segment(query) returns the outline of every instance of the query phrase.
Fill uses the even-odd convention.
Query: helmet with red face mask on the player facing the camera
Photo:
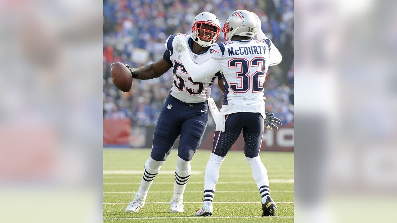
[[[204,29],[202,27],[203,24],[207,25],[212,25],[215,28],[215,32]],[[199,30],[203,31],[203,36],[201,37],[199,35]],[[221,23],[219,22],[218,18],[216,15],[209,13],[209,12],[202,12],[198,14],[195,19],[193,19],[193,24],[192,24],[192,39],[193,41],[197,42],[200,46],[202,47],[208,47],[212,46],[216,39],[219,37],[219,33],[221,32]],[[202,39],[209,40],[203,41]]]

